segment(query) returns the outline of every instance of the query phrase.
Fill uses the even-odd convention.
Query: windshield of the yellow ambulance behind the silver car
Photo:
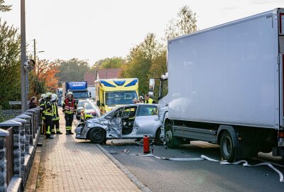
[[[135,90],[106,92],[106,105],[126,105],[133,103],[133,99],[138,98]]]

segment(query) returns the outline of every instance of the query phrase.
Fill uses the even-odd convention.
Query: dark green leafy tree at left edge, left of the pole
[[[21,39],[17,29],[0,20],[0,105],[21,100]]]

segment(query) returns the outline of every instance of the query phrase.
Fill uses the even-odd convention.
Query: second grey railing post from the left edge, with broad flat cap
[[[21,176],[21,144],[20,144],[20,122],[8,120],[1,122],[0,127],[13,127],[13,174]]]

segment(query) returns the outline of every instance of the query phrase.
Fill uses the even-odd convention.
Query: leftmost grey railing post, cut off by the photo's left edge
[[[6,183],[6,137],[9,132],[0,129],[0,192],[7,190]]]

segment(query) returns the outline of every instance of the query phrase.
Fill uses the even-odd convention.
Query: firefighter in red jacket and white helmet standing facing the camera
[[[62,105],[62,111],[65,113],[66,134],[73,134],[71,130],[76,110],[77,110],[77,104],[73,99],[73,93],[67,92],[67,98],[64,100]]]

